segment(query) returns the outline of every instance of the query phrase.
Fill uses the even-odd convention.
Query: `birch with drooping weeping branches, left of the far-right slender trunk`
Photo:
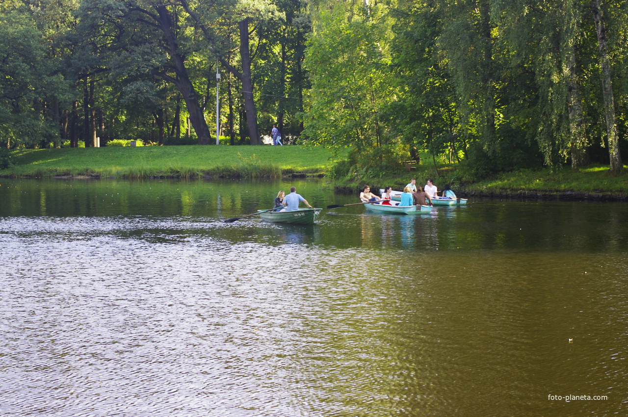
[[[529,121],[529,136],[539,144],[546,165],[571,158],[577,170],[589,144],[578,55],[585,35],[583,9],[577,2],[498,2],[499,6],[503,6],[498,8],[500,46],[509,65],[534,77],[529,106],[519,110]],[[522,79],[511,84],[515,81]],[[531,110],[538,116],[530,117]]]

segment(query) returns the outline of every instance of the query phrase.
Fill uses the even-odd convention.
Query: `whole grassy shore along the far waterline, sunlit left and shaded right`
[[[23,149],[11,154],[5,177],[94,176],[151,178],[321,176],[330,171],[331,154],[304,146],[144,146],[141,148]],[[401,190],[411,178],[424,185],[431,178],[440,189],[449,184],[461,195],[541,196],[569,198],[628,197],[628,173],[609,175],[608,166],[588,166],[578,172],[519,170],[470,182],[455,166],[418,165],[378,178],[337,180],[337,190],[358,193],[364,184],[379,190]]]

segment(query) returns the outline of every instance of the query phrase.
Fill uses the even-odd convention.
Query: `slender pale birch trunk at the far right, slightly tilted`
[[[609,51],[607,33],[600,0],[593,0],[591,4],[593,20],[597,30],[597,43],[600,51],[600,70],[602,72],[602,96],[604,97],[604,117],[606,132],[609,141],[610,172],[617,174],[622,168],[622,157],[619,152],[619,134],[615,125],[615,99],[613,97],[613,83],[610,78]]]

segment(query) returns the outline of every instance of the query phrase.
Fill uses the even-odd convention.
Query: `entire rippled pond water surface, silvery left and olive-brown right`
[[[291,185],[0,179],[0,414],[628,414],[627,204]]]

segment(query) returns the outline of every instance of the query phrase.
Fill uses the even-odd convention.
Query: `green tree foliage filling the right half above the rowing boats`
[[[407,144],[409,158],[423,150],[434,163],[463,161],[484,173],[566,161],[578,169],[602,161],[607,146],[618,171],[625,3],[315,5],[306,55],[312,89],[305,132],[313,143],[359,148],[383,137]],[[378,8],[386,10],[379,20],[365,13]],[[369,55],[364,45],[386,53]],[[364,111],[369,74],[382,88]],[[613,99],[615,86],[620,99]]]

